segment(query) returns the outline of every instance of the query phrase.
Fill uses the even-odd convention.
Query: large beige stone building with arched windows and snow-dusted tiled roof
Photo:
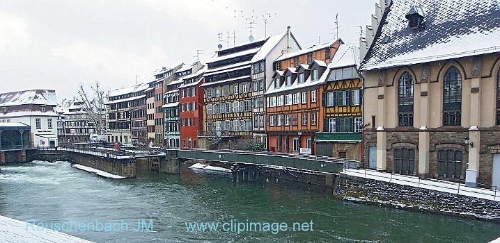
[[[380,6],[361,40],[367,166],[500,185],[497,1]]]

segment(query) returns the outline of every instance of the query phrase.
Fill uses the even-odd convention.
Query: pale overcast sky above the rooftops
[[[358,44],[375,0],[325,1],[4,1],[0,0],[0,92],[55,89],[72,98],[96,79],[114,90],[153,79],[157,68],[202,62],[217,50],[217,33],[236,43],[292,27],[302,48],[339,35]],[[230,39],[230,46],[233,39]]]

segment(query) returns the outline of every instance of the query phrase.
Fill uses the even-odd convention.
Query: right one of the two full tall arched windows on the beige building
[[[462,117],[462,76],[455,67],[444,75],[443,126],[460,126]]]

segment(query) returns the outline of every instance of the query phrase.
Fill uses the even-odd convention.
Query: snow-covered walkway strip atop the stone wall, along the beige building
[[[349,176],[357,176],[362,178],[373,179],[377,181],[385,181],[396,183],[399,185],[409,185],[412,187],[420,187],[428,190],[439,192],[448,192],[464,196],[472,196],[480,199],[500,201],[500,191],[488,190],[484,188],[466,187],[464,184],[453,183],[451,181],[440,181],[435,179],[419,179],[416,176],[404,176],[399,174],[391,174],[370,169],[344,169],[343,174]]]

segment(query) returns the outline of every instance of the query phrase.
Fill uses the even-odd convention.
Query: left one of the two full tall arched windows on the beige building
[[[398,126],[413,126],[413,81],[408,72],[398,82]]]

